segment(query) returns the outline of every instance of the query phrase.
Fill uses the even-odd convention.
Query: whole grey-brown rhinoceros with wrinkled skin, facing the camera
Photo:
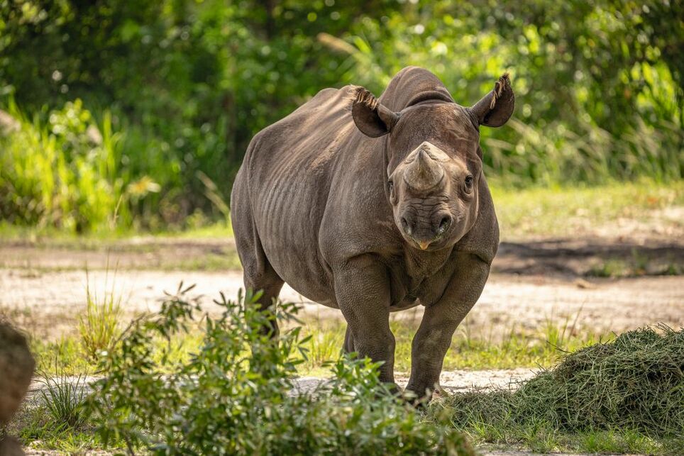
[[[262,130],[231,199],[245,287],[263,289],[265,308],[283,282],[339,308],[344,350],[383,361],[385,382],[390,312],[424,306],[407,390],[429,398],[499,243],[479,128],[501,126],[513,105],[507,75],[464,108],[434,74],[407,67],[379,100],[324,89]]]

